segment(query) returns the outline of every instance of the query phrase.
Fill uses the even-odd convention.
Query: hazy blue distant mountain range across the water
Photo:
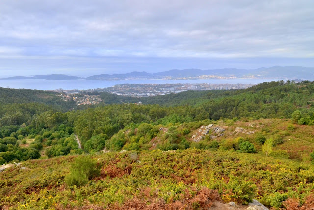
[[[262,79],[304,79],[314,80],[314,68],[301,66],[273,66],[258,69],[173,69],[158,73],[147,73],[145,71],[133,71],[125,74],[100,74],[82,78],[64,74],[36,75],[33,77],[8,77],[0,80],[20,79],[45,79],[45,80],[127,80],[127,79],[232,79],[232,78],[262,78]]]

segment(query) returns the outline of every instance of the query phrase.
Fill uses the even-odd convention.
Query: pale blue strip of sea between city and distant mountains
[[[15,89],[36,90],[88,90],[96,88],[107,88],[118,84],[258,84],[263,82],[278,81],[279,79],[195,79],[195,80],[162,80],[162,79],[135,79],[135,80],[0,80],[0,87]]]

